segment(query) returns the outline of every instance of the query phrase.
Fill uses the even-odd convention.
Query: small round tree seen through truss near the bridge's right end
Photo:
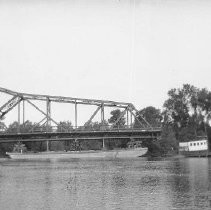
[[[115,109],[113,111],[111,111],[111,117],[108,119],[108,122],[111,124],[115,124],[115,122],[120,118],[121,114],[123,113],[123,111],[121,111],[120,109]],[[114,125],[114,128],[124,128],[125,127],[125,117],[122,116],[119,121]]]

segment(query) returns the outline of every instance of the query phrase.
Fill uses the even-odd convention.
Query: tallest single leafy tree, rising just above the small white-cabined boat
[[[192,132],[192,128],[197,130],[197,122],[193,123],[191,118],[197,116],[198,93],[199,89],[189,84],[168,91],[169,98],[164,102],[163,119],[165,125],[172,126],[177,139],[181,138],[180,132],[184,130],[186,132]]]

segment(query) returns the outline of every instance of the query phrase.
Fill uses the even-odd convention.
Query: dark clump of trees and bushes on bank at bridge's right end
[[[145,113],[147,109],[154,111]],[[162,112],[148,107],[143,115],[152,125],[162,126],[161,138],[149,145],[153,154],[177,153],[179,142],[195,140],[197,136],[207,136],[210,142],[211,92],[206,88],[189,84],[173,88],[168,91]]]

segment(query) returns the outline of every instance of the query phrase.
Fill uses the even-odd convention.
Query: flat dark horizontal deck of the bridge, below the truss
[[[60,140],[92,140],[92,139],[155,139],[161,130],[102,130],[102,131],[71,131],[71,132],[36,132],[36,133],[14,133],[0,134],[0,143],[18,141],[60,141]]]

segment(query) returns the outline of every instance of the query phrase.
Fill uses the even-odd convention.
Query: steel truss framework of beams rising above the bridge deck
[[[25,103],[28,103],[30,106],[34,107],[38,112],[43,115],[43,118],[35,124],[35,126],[45,125],[46,128],[51,126],[59,126],[59,122],[51,116],[51,103],[70,103],[74,104],[74,127],[78,128],[78,108],[79,104],[81,105],[89,105],[89,106],[96,106],[96,110],[90,118],[84,123],[83,127],[87,128],[91,123],[97,113],[100,112],[101,114],[101,126],[102,129],[105,129],[106,126],[104,125],[105,122],[105,109],[106,107],[113,107],[113,108],[121,108],[123,111],[119,118],[110,126],[109,129],[115,127],[118,122],[121,120],[122,117],[126,115],[126,126],[132,127],[133,122],[132,118],[136,119],[140,125],[141,129],[153,129],[152,126],[139,114],[138,110],[132,103],[124,103],[124,102],[116,102],[116,101],[108,101],[108,100],[95,100],[95,99],[82,99],[82,98],[72,98],[72,97],[63,97],[63,96],[50,96],[50,95],[38,95],[38,94],[28,94],[28,93],[20,93],[11,91],[5,88],[0,88],[0,92],[8,94],[11,98],[4,104],[0,106],[0,119],[3,119],[8,112],[18,106],[18,124],[20,125],[21,119],[21,112],[22,112],[22,119],[23,124],[25,122]],[[42,110],[39,106],[37,106],[34,101],[44,101],[46,103],[46,109]],[[22,111],[20,106],[22,104]],[[129,116],[130,115],[130,116]],[[130,122],[129,122],[130,119]],[[62,127],[63,131],[67,131],[67,128]],[[104,127],[104,128],[103,128]]]

